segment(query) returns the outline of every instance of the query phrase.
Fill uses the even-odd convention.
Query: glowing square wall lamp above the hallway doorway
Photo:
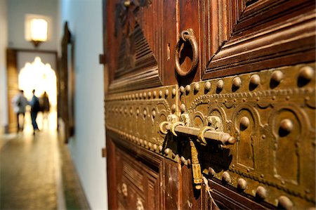
[[[48,40],[48,20],[43,16],[27,15],[25,18],[25,39],[35,48]]]

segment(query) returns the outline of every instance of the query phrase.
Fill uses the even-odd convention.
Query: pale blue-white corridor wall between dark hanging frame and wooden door
[[[74,41],[75,134],[69,149],[91,209],[107,209],[103,66],[98,63],[102,0],[59,1],[60,32],[67,21]]]

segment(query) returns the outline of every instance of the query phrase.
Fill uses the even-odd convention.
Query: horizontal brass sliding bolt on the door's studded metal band
[[[169,131],[173,136],[178,136],[182,134],[192,138],[197,138],[197,141],[202,145],[206,145],[209,140],[216,140],[222,145],[233,145],[236,142],[234,136],[230,136],[229,133],[223,131],[214,131],[211,126],[204,126],[202,129],[185,126],[183,122],[175,122],[171,124],[170,122],[162,122],[159,125],[160,132],[166,134]]]

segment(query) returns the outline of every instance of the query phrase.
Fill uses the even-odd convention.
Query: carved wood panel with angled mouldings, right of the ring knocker
[[[212,0],[201,7],[203,79],[315,60],[314,1]]]

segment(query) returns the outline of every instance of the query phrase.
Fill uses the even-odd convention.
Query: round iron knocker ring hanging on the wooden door
[[[179,54],[180,54],[180,47],[183,43],[190,41],[192,46],[193,58],[190,70],[185,71],[180,67],[179,62]],[[186,29],[183,32],[180,32],[179,41],[176,45],[176,53],[175,53],[175,63],[176,63],[176,71],[181,77],[186,77],[190,74],[193,70],[196,70],[197,65],[199,63],[199,48],[197,46],[197,39],[195,38],[195,34],[192,29]]]

